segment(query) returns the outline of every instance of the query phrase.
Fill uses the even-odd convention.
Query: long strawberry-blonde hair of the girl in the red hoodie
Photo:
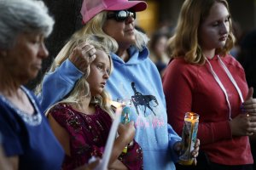
[[[223,3],[229,9],[226,0],[186,0],[183,3],[177,21],[176,32],[168,41],[168,54],[172,58],[183,57],[191,64],[204,64],[206,57],[202,54],[198,40],[198,31],[201,23],[206,20],[209,11],[214,3]],[[228,54],[235,44],[235,37],[232,33],[232,23],[230,22],[230,32],[223,48],[217,48],[216,54]],[[211,41],[211,40],[209,40]]]

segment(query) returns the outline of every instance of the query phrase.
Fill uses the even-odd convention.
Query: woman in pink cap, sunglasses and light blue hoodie
[[[181,139],[167,124],[160,74],[148,58],[148,37],[134,28],[136,12],[146,8],[143,1],[84,0],[81,9],[84,27],[72,38],[94,34],[107,47],[109,42],[118,44],[117,52],[111,54],[114,69],[106,89],[113,100],[132,101],[130,119],[135,122],[135,140],[143,149],[143,168],[175,169]],[[94,50],[87,54],[95,57]],[[67,59],[44,77],[39,96],[44,110],[64,98],[84,75],[84,68],[75,65],[79,63]],[[192,151],[194,157],[198,150],[199,140]]]

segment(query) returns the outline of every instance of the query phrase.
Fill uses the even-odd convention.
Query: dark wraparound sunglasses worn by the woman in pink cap
[[[126,20],[129,16],[132,18],[136,19],[136,13],[130,10],[119,10],[119,11],[113,11],[113,14],[108,14],[107,19],[114,19],[116,21],[124,21]]]

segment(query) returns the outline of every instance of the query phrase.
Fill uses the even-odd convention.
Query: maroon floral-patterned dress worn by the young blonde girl
[[[55,105],[49,114],[67,130],[70,137],[70,156],[65,156],[62,169],[69,170],[82,166],[91,156],[102,157],[112,124],[112,118],[107,112],[96,106],[95,114],[86,115],[73,110],[70,105],[59,104]],[[127,153],[119,156],[119,161],[128,169],[143,169],[142,148],[134,140]]]

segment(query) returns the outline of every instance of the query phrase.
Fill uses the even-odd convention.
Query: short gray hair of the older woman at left
[[[22,33],[48,37],[53,25],[42,1],[0,0],[0,49],[12,48]]]

